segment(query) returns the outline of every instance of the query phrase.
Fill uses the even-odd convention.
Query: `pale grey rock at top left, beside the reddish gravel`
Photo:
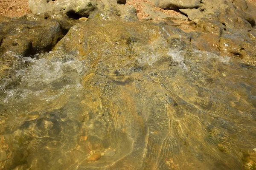
[[[88,17],[95,8],[96,2],[91,0],[29,0],[29,10],[33,14],[63,11],[70,16]]]

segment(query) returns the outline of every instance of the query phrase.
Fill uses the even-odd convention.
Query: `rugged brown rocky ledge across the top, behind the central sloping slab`
[[[34,14],[12,19],[0,18],[0,55],[3,56],[7,51],[23,56],[51,51],[72,26],[77,27],[77,20],[81,17],[89,18],[87,23],[79,24],[90,28],[90,31],[94,31],[94,28],[90,27],[90,23],[94,22],[124,21],[123,25],[131,22],[134,22],[134,25],[145,24],[145,21],[139,21],[143,18],[138,20],[137,10],[137,13],[146,14],[145,20],[149,22],[147,24],[159,27],[162,25],[170,29],[176,26],[180,28],[178,36],[189,34],[186,44],[191,48],[236,57],[250,64],[255,63],[254,4],[244,0],[142,0],[137,1],[139,6],[134,8],[125,3],[125,0],[29,0],[29,9]],[[133,4],[133,1],[128,0],[127,3]],[[162,8],[162,11],[155,8]],[[170,9],[176,10],[177,14],[166,14],[164,10]],[[115,39],[115,35],[112,36]]]

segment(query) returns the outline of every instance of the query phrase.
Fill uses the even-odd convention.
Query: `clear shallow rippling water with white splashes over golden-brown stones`
[[[255,67],[170,49],[141,56],[148,68],[104,75],[48,55],[19,59],[0,80],[2,169],[241,170],[255,161]]]

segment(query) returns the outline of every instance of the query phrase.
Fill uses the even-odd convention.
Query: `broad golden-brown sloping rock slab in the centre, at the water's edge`
[[[53,52],[58,50],[64,55],[86,59],[89,65],[101,65],[102,60],[114,64],[116,69],[108,68],[108,72],[119,69],[129,72],[131,65],[146,68],[164,57],[168,48],[186,49],[189,43],[189,37],[176,27],[151,22],[94,21],[92,18],[71,28]],[[159,55],[155,56],[156,52]],[[122,64],[118,62],[120,58]]]

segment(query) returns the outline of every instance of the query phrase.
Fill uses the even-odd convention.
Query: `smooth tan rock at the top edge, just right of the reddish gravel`
[[[201,6],[200,0],[150,0],[155,6],[162,9],[176,8],[198,8]]]

